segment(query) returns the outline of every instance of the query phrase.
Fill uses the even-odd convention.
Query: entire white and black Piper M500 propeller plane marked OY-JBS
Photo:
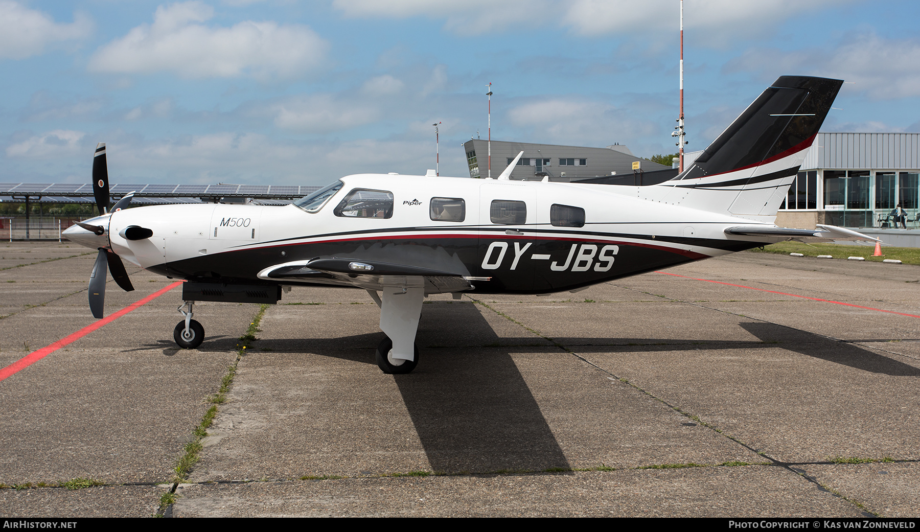
[[[196,301],[277,303],[288,286],[366,290],[380,306],[385,373],[419,361],[426,295],[546,294],[751,249],[786,239],[875,240],[841,227],[774,225],[843,82],[784,75],[683,173],[632,187],[358,174],[292,205],[109,208],[105,145],[93,163],[102,215],[64,231],[98,249],[89,306],[102,318],[108,263],[121,259],[185,279],[175,339],[201,344]],[[518,155],[520,157],[521,154]],[[121,259],[120,259],[121,258]]]

